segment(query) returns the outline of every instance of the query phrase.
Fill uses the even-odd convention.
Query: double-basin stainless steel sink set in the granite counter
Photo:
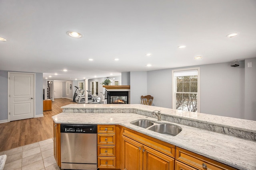
[[[172,125],[169,123],[156,123],[154,121],[145,120],[145,119],[132,121],[131,124],[139,127],[143,127],[150,131],[154,131],[157,133],[170,135],[170,136],[176,136],[182,131],[182,128],[177,125]]]

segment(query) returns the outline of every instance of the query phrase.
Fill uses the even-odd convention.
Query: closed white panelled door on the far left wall
[[[10,121],[34,117],[34,74],[10,73]]]

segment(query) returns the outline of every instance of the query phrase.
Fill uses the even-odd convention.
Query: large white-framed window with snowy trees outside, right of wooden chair
[[[172,108],[200,111],[200,68],[172,70]]]

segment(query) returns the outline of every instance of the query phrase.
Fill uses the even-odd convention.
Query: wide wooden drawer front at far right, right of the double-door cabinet
[[[179,147],[176,147],[176,160],[199,170],[236,170],[235,168]]]

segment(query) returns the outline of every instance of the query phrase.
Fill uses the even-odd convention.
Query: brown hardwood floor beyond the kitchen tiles
[[[52,110],[44,117],[0,123],[0,151],[21,147],[53,137],[52,116],[61,113],[60,107],[74,104],[70,99],[54,99]]]

